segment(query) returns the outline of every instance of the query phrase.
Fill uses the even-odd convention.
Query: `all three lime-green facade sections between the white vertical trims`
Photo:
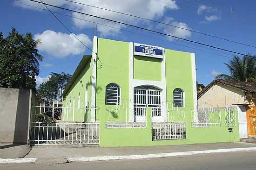
[[[98,38],[97,62],[97,94],[96,107],[108,115],[108,121],[125,122],[129,118],[129,110],[122,106],[117,112],[109,112],[113,105],[105,105],[105,87],[115,82],[121,87],[121,101],[129,101],[129,43]],[[165,49],[167,101],[173,105],[173,90],[182,88],[185,92],[184,111],[193,111],[193,86],[191,53]],[[134,78],[139,80],[162,81],[161,59],[135,56]],[[169,119],[170,119],[169,115]],[[96,115],[99,120],[99,115]],[[181,121],[178,118],[177,121]]]

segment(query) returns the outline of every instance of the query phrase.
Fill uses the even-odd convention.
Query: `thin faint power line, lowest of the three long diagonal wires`
[[[31,5],[28,5],[28,4],[23,4],[23,3],[21,3],[21,2],[17,2],[17,3],[22,4],[22,5],[25,5],[25,6],[34,7],[34,8],[40,9],[40,10],[48,11],[48,10],[46,10],[46,9],[42,9],[42,8],[39,8],[39,7],[36,7],[36,6],[31,6]],[[207,53],[209,53],[209,54],[214,54],[214,55],[217,55],[217,56],[222,56],[222,57],[226,57],[226,58],[231,58],[231,57],[223,56],[223,55],[221,55],[221,54],[217,54],[217,53],[214,53],[214,52],[210,52],[210,51],[206,51],[206,50],[201,50],[201,49],[189,47],[189,46],[187,46],[187,45],[174,43],[174,42],[167,41],[167,40],[164,40],[164,39],[161,39],[161,38],[155,38],[155,37],[147,36],[147,35],[144,35],[144,34],[140,34],[140,33],[138,33],[138,32],[133,32],[133,31],[124,30],[124,29],[117,28],[117,27],[110,26],[110,25],[104,25],[104,24],[101,24],[101,23],[97,23],[97,22],[94,22],[94,21],[87,20],[87,19],[81,19],[81,18],[73,17],[73,16],[70,16],[70,15],[66,15],[66,14],[58,13],[58,12],[53,12],[53,13],[57,13],[57,14],[60,14],[60,15],[63,15],[63,16],[67,16],[67,17],[70,17],[70,18],[74,18],[74,19],[80,19],[80,20],[87,21],[87,22],[91,22],[91,23],[98,24],[98,25],[107,26],[107,27],[114,28],[114,29],[118,29],[118,30],[121,30],[121,31],[130,32],[130,33],[137,34],[137,35],[141,35],[141,36],[148,37],[148,38],[153,38],[153,39],[160,40],[160,41],[164,41],[164,42],[167,42],[167,43],[170,43],[170,44],[176,44],[176,45],[180,45],[180,46],[183,46],[183,47],[186,47],[186,48],[190,48],[190,49],[194,49],[194,50],[200,50],[200,51],[202,51],[202,52],[207,52]],[[176,40],[176,39],[175,39],[175,40]],[[177,41],[177,40],[176,40],[176,41]],[[191,44],[191,45],[195,45],[195,44]],[[201,47],[201,48],[205,48],[205,47]]]

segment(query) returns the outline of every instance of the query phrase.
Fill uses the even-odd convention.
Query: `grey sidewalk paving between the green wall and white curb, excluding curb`
[[[256,147],[252,143],[216,143],[194,145],[169,145],[169,146],[140,146],[140,147],[72,147],[72,146],[34,146],[26,157],[56,158],[56,157],[97,157],[97,156],[123,156],[145,155],[155,153],[205,151],[228,148]]]

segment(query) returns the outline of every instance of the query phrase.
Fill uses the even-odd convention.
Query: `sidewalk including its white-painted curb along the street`
[[[0,150],[0,158],[13,155],[18,157],[16,151],[25,151],[25,146],[13,146]],[[29,148],[29,146],[27,146]],[[4,151],[4,152],[2,152]],[[0,159],[2,163],[31,162],[36,164],[61,164],[68,162],[83,162],[97,160],[141,159],[156,157],[173,157],[178,155],[210,154],[234,151],[256,151],[255,143],[235,142],[216,144],[194,145],[169,145],[169,146],[142,146],[142,147],[116,147],[100,148],[98,146],[71,146],[71,145],[40,145],[27,150],[27,155],[22,159]],[[21,152],[19,152],[21,153]],[[25,152],[23,152],[24,154]],[[5,155],[6,154],[6,155]]]

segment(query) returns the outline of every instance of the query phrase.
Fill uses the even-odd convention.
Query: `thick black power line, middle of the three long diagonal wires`
[[[98,18],[98,19],[104,19],[104,20],[120,23],[120,24],[123,24],[123,25],[128,25],[128,26],[131,26],[131,27],[139,28],[141,30],[155,32],[155,33],[162,34],[162,35],[165,35],[165,36],[168,36],[168,37],[182,39],[184,41],[192,42],[192,43],[195,43],[195,44],[200,44],[200,45],[203,45],[203,46],[208,46],[208,47],[215,48],[215,49],[218,49],[218,50],[223,50],[223,51],[228,51],[228,52],[239,54],[239,55],[243,55],[243,56],[248,56],[248,55],[243,54],[243,53],[239,53],[239,52],[235,52],[235,51],[231,51],[231,50],[226,50],[226,49],[223,49],[223,48],[220,48],[220,47],[216,47],[216,46],[213,46],[213,45],[203,44],[203,43],[200,43],[200,42],[197,42],[197,41],[192,41],[192,40],[189,40],[189,39],[186,39],[186,38],[176,37],[176,36],[173,36],[173,35],[170,35],[170,34],[165,34],[165,33],[159,32],[159,31],[150,30],[150,29],[143,28],[143,27],[140,27],[140,26],[127,24],[127,23],[123,23],[123,22],[120,22],[120,21],[115,21],[113,19],[106,19],[106,18],[103,18],[103,17],[98,17],[98,16],[91,15],[91,14],[88,14],[88,13],[82,13],[82,12],[79,12],[79,11],[74,11],[72,9],[67,9],[67,8],[60,7],[60,6],[54,6],[54,5],[51,5],[51,4],[47,4],[47,3],[43,3],[43,2],[39,2],[39,1],[35,1],[35,0],[30,0],[30,1],[37,2],[37,3],[40,3],[40,4],[44,4],[44,5],[47,5],[47,6],[53,6],[53,7],[56,7],[56,8],[59,8],[59,9],[63,9],[63,10],[67,10],[67,11],[71,11],[71,12],[74,12],[74,13],[80,13],[80,14],[91,16],[91,17]],[[253,57],[253,56],[248,56],[248,57]]]

